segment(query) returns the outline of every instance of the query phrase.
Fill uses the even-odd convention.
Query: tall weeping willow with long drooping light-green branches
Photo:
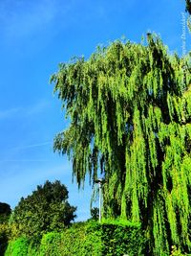
[[[71,121],[54,150],[70,156],[79,186],[104,175],[104,216],[141,222],[150,255],[191,248],[190,60],[147,35],[60,64],[52,77]]]

